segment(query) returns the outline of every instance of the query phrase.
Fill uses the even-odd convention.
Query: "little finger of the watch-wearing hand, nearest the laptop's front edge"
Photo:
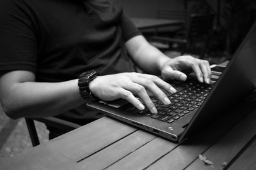
[[[145,106],[141,103],[141,101],[138,100],[135,96],[133,96],[132,92],[129,92],[128,90],[120,89],[119,97],[131,103],[138,110],[145,109]]]

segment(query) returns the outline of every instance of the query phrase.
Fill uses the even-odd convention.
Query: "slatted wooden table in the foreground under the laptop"
[[[0,160],[0,169],[256,169],[255,103],[243,103],[173,143],[109,117]],[[238,120],[238,121],[237,121]],[[213,162],[207,166],[202,154]]]

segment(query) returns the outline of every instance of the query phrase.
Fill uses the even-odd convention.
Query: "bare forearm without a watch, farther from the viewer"
[[[137,36],[127,41],[127,49],[134,62],[145,73],[160,74],[163,64],[170,60],[156,47],[150,45],[143,36]]]

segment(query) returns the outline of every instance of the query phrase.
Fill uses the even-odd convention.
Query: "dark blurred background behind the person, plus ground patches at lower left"
[[[143,35],[169,57],[193,55],[219,64],[231,59],[256,18],[254,0],[120,0],[132,19],[179,21],[179,24],[139,27]],[[202,24],[202,20],[204,20]],[[138,23],[137,23],[138,24]],[[139,23],[140,24],[140,23]],[[153,24],[154,25],[154,24]],[[202,34],[204,33],[204,34]],[[44,124],[36,122],[40,143],[48,141]],[[11,120],[0,106],[0,157],[31,148],[24,118]]]

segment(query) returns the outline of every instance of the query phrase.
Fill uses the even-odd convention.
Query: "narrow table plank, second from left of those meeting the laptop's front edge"
[[[84,167],[84,169],[104,169],[154,138],[156,138],[156,136],[148,132],[136,131],[113,145],[108,146],[104,150],[100,150],[100,152],[82,160],[79,164]]]

